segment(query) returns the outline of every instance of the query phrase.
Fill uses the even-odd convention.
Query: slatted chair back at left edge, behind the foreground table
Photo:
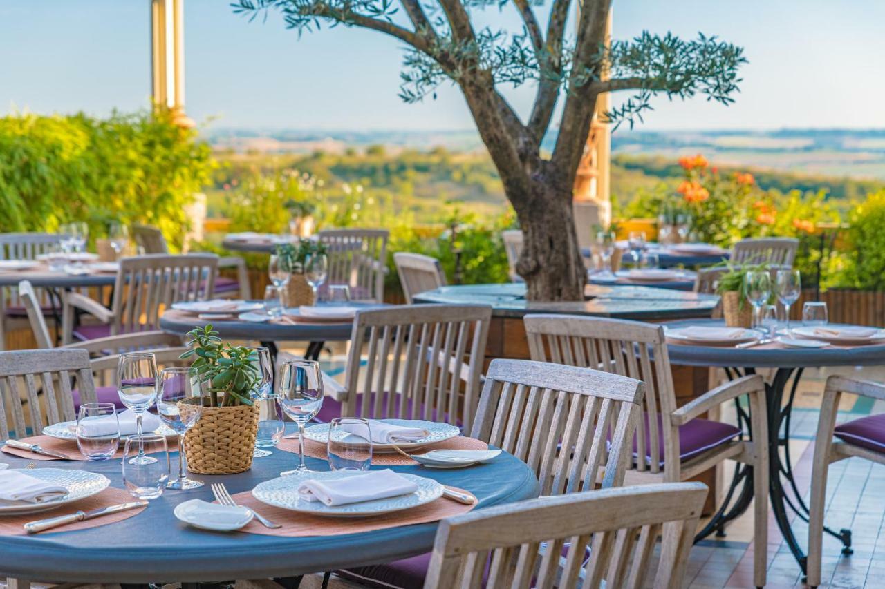
[[[73,379],[76,379],[81,402],[95,402],[89,353],[84,349],[0,352],[0,436],[3,440],[26,438],[39,434],[46,425],[75,419]]]

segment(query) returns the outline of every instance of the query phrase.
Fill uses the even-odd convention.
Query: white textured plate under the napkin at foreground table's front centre
[[[296,473],[287,477],[273,478],[259,484],[252,489],[252,496],[263,503],[282,509],[291,509],[309,513],[314,516],[332,517],[368,517],[377,516],[391,511],[412,509],[435,501],[443,496],[443,486],[433,478],[417,477],[405,472],[397,473],[401,477],[408,478],[418,486],[418,491],[405,495],[397,495],[387,499],[362,501],[349,505],[329,506],[322,501],[304,501],[298,493],[298,487],[305,480],[312,478],[320,480],[333,480],[337,478],[353,477],[354,472],[345,470],[329,470],[324,472]]]

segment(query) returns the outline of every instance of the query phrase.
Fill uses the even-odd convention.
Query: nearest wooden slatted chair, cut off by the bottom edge
[[[436,531],[424,587],[640,589],[653,572],[648,586],[676,589],[706,493],[700,483],[633,486],[450,517]]]

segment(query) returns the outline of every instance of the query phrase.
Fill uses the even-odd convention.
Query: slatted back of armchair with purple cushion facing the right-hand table
[[[523,321],[533,360],[588,367],[643,381],[648,440],[646,428],[637,427],[636,447],[647,447],[649,452],[636,453],[636,469],[661,470],[657,457],[662,441],[664,462],[679,463],[677,434],[667,426],[676,409],[676,396],[661,325],[573,315],[527,315]]]

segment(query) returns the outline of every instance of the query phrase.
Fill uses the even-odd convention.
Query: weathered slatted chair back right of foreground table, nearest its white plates
[[[587,368],[496,359],[472,437],[527,463],[544,495],[620,486],[644,389]]]

